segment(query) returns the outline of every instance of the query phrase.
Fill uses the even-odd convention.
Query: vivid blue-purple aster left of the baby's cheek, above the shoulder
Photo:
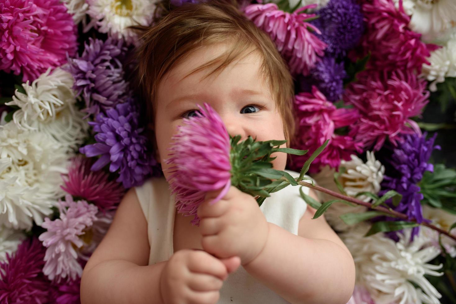
[[[139,109],[132,98],[107,110],[106,114],[99,113],[94,122],[89,122],[97,132],[97,143],[79,149],[87,157],[101,155],[90,168],[92,171],[111,162],[109,171],[120,170],[117,182],[122,182],[125,188],[140,185],[150,173],[161,174],[148,151],[148,140],[142,134],[144,128],[139,126],[139,118]]]

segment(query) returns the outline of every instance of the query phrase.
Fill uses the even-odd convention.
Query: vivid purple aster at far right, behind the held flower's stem
[[[434,146],[437,133],[428,140],[426,135],[427,133],[405,135],[398,147],[394,148],[393,154],[387,159],[390,170],[383,179],[383,190],[380,192],[380,195],[383,195],[389,190],[395,190],[401,194],[402,200],[397,207],[394,207],[391,200],[387,203],[394,210],[407,214],[409,219],[415,218],[418,223],[422,223],[424,219],[420,203],[423,194],[420,193],[420,187],[417,184],[423,178],[425,171],[434,170],[434,166],[428,163],[429,158],[434,149],[440,149],[440,146]],[[387,219],[397,220],[389,217]],[[419,226],[413,228],[411,240],[419,231]],[[389,237],[398,240],[395,232],[389,233]]]

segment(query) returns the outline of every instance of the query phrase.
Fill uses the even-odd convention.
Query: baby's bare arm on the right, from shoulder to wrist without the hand
[[[298,235],[268,223],[264,249],[243,267],[291,303],[345,304],[355,284],[353,258],[323,216],[311,219],[315,211],[307,206]]]

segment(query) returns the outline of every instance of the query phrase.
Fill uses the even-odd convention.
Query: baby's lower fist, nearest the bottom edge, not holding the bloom
[[[220,260],[202,250],[179,250],[161,272],[162,301],[165,304],[217,303],[223,280],[239,264],[238,257]]]

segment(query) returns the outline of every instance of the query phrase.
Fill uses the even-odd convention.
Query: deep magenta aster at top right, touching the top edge
[[[421,42],[421,34],[409,28],[410,17],[402,1],[396,9],[393,0],[373,0],[363,4],[362,10],[367,29],[360,52],[361,55],[371,52],[368,68],[420,73],[423,64],[430,64],[427,59],[430,51],[439,46]]]

